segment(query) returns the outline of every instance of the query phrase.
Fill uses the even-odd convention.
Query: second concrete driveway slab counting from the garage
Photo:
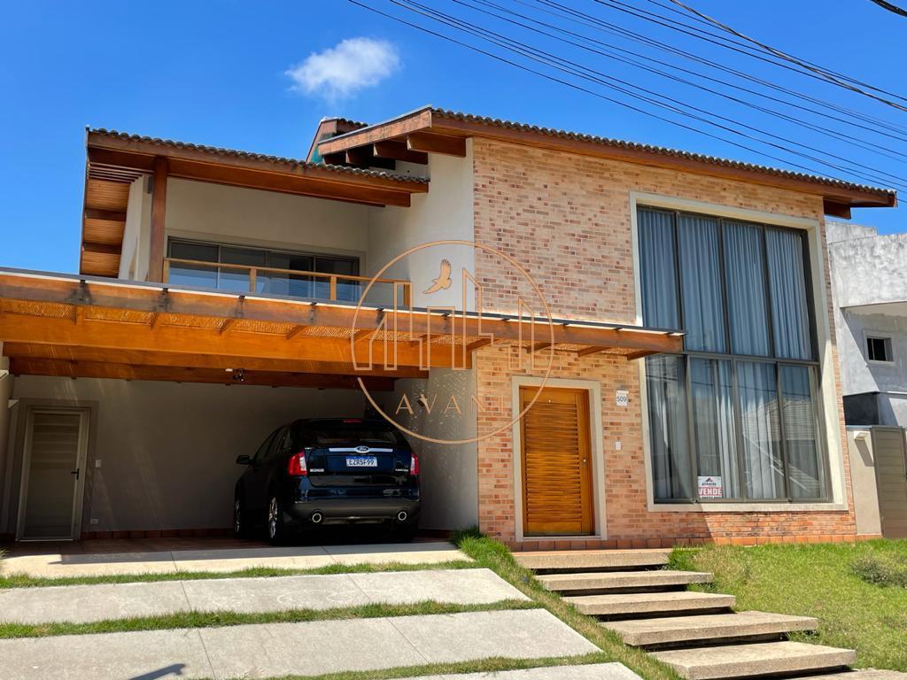
[[[89,623],[187,611],[276,612],[424,600],[488,604],[528,597],[493,571],[431,569],[277,578],[212,578],[0,590],[0,623]]]

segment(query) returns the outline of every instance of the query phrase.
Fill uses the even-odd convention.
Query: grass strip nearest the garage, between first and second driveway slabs
[[[34,577],[12,573],[0,575],[3,588],[45,588],[47,586],[94,586],[103,583],[152,583],[154,581],[190,581],[206,578],[275,578],[280,576],[311,576],[330,574],[373,574],[382,571],[422,571],[424,569],[474,569],[474,562],[453,559],[447,562],[385,562],[382,564],[330,564],[324,567],[288,569],[253,567],[237,571],[171,571],[162,574],[112,574],[110,576],[76,576],[62,578]]]

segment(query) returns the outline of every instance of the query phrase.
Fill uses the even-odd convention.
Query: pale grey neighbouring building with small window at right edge
[[[907,234],[826,229],[844,418],[907,426]]]

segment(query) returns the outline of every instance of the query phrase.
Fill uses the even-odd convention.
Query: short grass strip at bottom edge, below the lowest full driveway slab
[[[583,656],[551,656],[538,659],[520,659],[507,656],[493,656],[477,661],[461,661],[449,664],[405,665],[374,671],[341,671],[327,675],[281,675],[270,680],[392,680],[400,677],[420,675],[455,675],[461,673],[492,673],[496,671],[543,668],[552,665],[607,664],[610,658],[604,652]],[[236,678],[235,680],[239,680]]]

